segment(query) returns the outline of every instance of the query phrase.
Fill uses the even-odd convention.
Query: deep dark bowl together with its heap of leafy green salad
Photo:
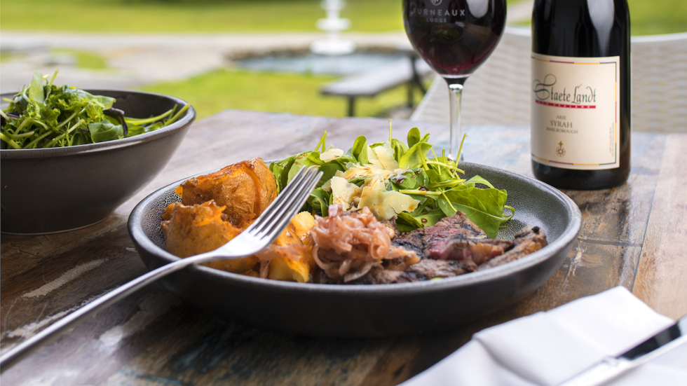
[[[81,90],[34,74],[2,94],[2,233],[53,233],[106,219],[153,179],[196,111],[169,95]]]

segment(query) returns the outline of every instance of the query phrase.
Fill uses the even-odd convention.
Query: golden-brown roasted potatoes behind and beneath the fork
[[[276,181],[260,159],[243,161],[218,172],[184,181],[176,193],[181,203],[170,205],[161,227],[170,253],[179,257],[211,251],[229,242],[259,216],[276,198]],[[292,219],[273,245],[257,256],[220,260],[206,266],[274,280],[308,282],[315,268],[311,243],[305,237],[315,226],[308,212]]]

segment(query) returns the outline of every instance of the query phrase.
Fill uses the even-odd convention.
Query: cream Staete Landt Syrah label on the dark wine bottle
[[[620,166],[620,57],[532,53],[532,160],[576,170]]]

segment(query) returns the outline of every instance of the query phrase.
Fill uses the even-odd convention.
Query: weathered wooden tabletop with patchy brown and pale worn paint
[[[419,125],[395,120],[395,137]],[[383,140],[383,119],[224,111],[191,127],[169,165],[94,226],[1,237],[1,350],[146,272],[126,228],[132,207],[161,186],[238,160],[279,158],[358,135]],[[311,338],[226,322],[152,286],[41,347],[3,385],[395,385],[465,344],[473,333],[622,285],[672,318],[687,313],[687,135],[634,133],[627,184],[566,191],[583,213],[557,273],[519,303],[447,333],[374,339]],[[529,174],[529,129],[472,127],[465,159]],[[30,202],[27,203],[30,205]]]

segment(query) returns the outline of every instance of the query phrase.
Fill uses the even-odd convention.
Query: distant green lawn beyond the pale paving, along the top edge
[[[509,4],[522,0],[508,0]],[[687,1],[627,0],[635,35],[687,32]],[[320,0],[3,0],[0,27],[69,32],[311,32]],[[400,0],[347,0],[351,31],[402,29]]]

